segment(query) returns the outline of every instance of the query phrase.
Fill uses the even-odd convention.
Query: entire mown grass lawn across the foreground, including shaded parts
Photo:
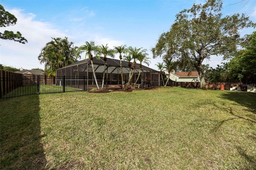
[[[256,94],[159,88],[0,101],[0,169],[255,169]]]

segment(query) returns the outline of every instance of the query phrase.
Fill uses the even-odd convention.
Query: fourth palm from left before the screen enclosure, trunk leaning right
[[[133,77],[133,75],[134,75],[134,71],[135,71],[135,67],[136,67],[136,60],[138,59],[138,57],[140,56],[140,55],[142,55],[142,53],[145,53],[146,52],[146,49],[142,49],[142,48],[136,48],[136,47],[129,47],[128,48],[128,53],[129,53],[129,55],[132,57],[132,59],[133,59],[133,62],[132,62],[132,67],[133,67],[133,70],[132,70],[132,75],[130,75],[130,77],[129,77],[129,81],[128,81],[128,83],[127,83],[127,85],[126,85],[126,87],[125,87],[125,90],[128,90],[128,85],[130,84],[130,82],[131,82],[131,79],[132,79],[132,77]]]

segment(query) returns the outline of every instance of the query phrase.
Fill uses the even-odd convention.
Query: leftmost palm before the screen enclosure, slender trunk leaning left
[[[100,59],[100,57],[97,55],[98,52],[99,52],[99,47],[98,47],[98,45],[95,45],[94,41],[85,42],[85,45],[81,45],[81,46],[78,48],[78,51],[79,51],[80,53],[86,52],[86,53],[85,53],[85,57],[86,57],[86,55],[88,55],[88,58],[90,59],[91,64],[92,64],[92,72],[93,72],[94,80],[95,80],[95,82],[96,82],[96,85],[97,85],[98,90],[100,90],[100,87],[99,87],[99,85],[98,85],[98,81],[97,81],[97,78],[96,78],[96,73],[95,73],[93,61],[92,61],[92,59],[93,59],[92,53],[94,53],[94,55],[95,55],[95,57],[96,57],[97,59]]]

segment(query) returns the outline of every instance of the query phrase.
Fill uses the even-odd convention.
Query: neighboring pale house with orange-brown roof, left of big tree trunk
[[[168,77],[168,72],[166,73]],[[191,72],[171,72],[170,79],[172,81],[177,82],[191,82],[191,81],[198,81],[200,82],[199,74],[197,71]]]

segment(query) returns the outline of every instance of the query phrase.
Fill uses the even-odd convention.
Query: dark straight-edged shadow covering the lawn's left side
[[[44,169],[39,96],[0,101],[0,169]]]

